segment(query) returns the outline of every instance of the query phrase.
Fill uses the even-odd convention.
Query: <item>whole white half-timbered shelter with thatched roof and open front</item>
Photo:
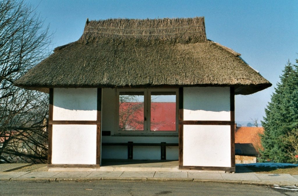
[[[179,159],[179,169],[233,172],[234,97],[271,83],[208,40],[204,18],[195,17],[87,19],[78,41],[55,48],[15,85],[49,93],[52,169],[96,169],[102,158]],[[123,100],[142,103],[137,126],[122,121],[130,113]],[[175,109],[155,114],[157,100]],[[164,112],[175,122],[156,122]]]

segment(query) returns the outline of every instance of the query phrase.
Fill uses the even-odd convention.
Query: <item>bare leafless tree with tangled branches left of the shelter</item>
[[[13,82],[49,55],[52,35],[30,5],[0,2],[0,163],[46,162],[48,96]]]

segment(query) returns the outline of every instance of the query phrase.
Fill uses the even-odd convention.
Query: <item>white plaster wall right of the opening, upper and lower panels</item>
[[[183,88],[183,108],[184,121],[230,121],[230,88]],[[231,167],[231,126],[183,125],[183,166]]]

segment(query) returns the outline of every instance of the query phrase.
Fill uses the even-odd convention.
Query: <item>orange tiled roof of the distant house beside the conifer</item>
[[[252,143],[254,148],[259,151],[259,149],[262,149],[259,134],[263,133],[263,127],[239,126],[235,131],[235,143]]]

